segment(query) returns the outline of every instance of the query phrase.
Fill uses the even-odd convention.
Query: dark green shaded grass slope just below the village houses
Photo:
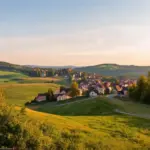
[[[110,105],[110,103],[105,101],[104,97],[102,98],[102,100],[99,99],[100,98],[85,100],[81,101],[80,103],[75,102],[59,107],[50,107],[51,109],[49,109],[49,105],[41,105],[38,110],[52,114],[69,116],[102,115],[103,113],[112,114],[117,105]]]

